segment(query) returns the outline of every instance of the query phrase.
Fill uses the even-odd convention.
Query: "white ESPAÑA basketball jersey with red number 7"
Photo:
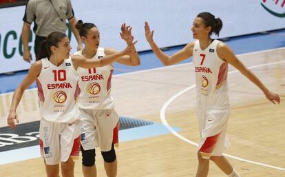
[[[193,48],[193,63],[196,72],[197,101],[199,107],[229,106],[228,63],[222,61],[217,54],[214,40],[206,49],[200,48],[196,41]]]

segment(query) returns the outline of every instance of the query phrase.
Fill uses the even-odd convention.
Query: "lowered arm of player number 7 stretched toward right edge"
[[[273,92],[270,92],[266,86],[260,81],[260,79],[251,72],[239,59],[237,59],[237,56],[233,53],[233,50],[226,45],[225,43],[218,43],[217,47],[217,53],[220,59],[226,61],[227,63],[230,63],[235,67],[237,70],[239,70],[246,78],[248,78],[251,82],[253,82],[257,87],[264,92],[266,98],[268,98],[269,101],[272,103],[280,103],[280,98],[278,94],[275,94]]]

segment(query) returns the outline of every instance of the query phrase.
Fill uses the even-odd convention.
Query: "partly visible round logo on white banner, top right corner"
[[[262,0],[260,4],[262,8],[264,8],[268,13],[274,15],[275,17],[285,17],[285,0]]]

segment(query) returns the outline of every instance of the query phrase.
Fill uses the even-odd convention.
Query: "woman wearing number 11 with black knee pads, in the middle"
[[[85,48],[75,54],[85,56],[90,61],[96,61],[104,56],[118,53],[112,48],[101,48],[100,34],[93,23],[76,24]],[[122,39],[131,45],[134,37],[131,28],[125,24],[121,27]],[[123,65],[140,65],[137,52],[129,56],[121,56],[117,60]],[[114,71],[113,65],[94,67],[92,69],[78,68],[79,86],[81,95],[78,107],[81,112],[81,152],[82,170],[85,177],[97,175],[95,165],[95,147],[100,147],[104,159],[104,167],[108,177],[117,175],[117,160],[114,145],[118,143],[119,117],[114,110],[114,98],[111,96],[111,79]]]

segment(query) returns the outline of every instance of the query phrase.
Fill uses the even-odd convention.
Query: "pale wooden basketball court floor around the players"
[[[273,105],[264,94],[242,74],[229,74],[232,114],[228,135],[232,147],[226,154],[254,161],[244,162],[229,158],[241,176],[285,176],[285,50],[270,50],[244,54],[239,59],[282,98]],[[143,61],[142,61],[143,62]],[[233,68],[230,67],[232,71]],[[183,64],[132,74],[114,76],[112,93],[120,116],[160,121],[162,106],[181,90],[194,84],[193,65]],[[6,126],[11,94],[0,97],[0,125]],[[180,127],[180,135],[199,142],[196,121],[195,88],[176,98],[167,107],[166,121]],[[21,123],[39,119],[36,90],[25,93],[19,107]],[[180,140],[173,134],[154,136],[120,143],[117,149],[118,176],[121,177],[183,177],[195,176],[198,165],[197,147]],[[106,176],[103,160],[97,153],[98,176]],[[1,158],[1,157],[0,157]],[[264,167],[258,163],[281,167]],[[36,158],[0,165],[0,176],[45,176],[43,160]],[[75,176],[83,176],[81,160],[76,161]],[[210,177],[226,176],[211,163]]]

